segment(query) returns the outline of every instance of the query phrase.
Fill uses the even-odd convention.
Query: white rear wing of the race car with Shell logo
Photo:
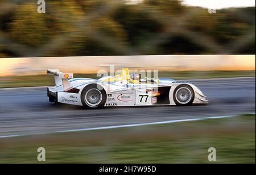
[[[55,86],[63,85],[64,90],[67,90],[72,87],[68,79],[73,78],[73,73],[63,73],[63,72],[60,72],[59,69],[48,69],[47,74],[54,75]]]

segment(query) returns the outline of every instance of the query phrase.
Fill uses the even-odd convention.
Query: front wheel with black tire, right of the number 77
[[[187,97],[187,95],[189,95],[189,97]],[[195,99],[195,92],[192,89],[192,87],[189,85],[179,85],[174,90],[174,102],[177,106],[192,105],[194,99]]]

